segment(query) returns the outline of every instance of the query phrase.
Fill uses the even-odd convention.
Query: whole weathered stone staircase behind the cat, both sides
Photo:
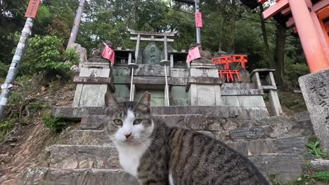
[[[187,114],[184,109],[157,107],[153,114],[167,125],[205,132],[226,142],[268,177],[276,176],[283,182],[299,177],[304,165],[304,144],[307,137],[314,135],[309,118],[250,119],[238,117],[229,107],[205,108],[207,114],[205,109],[193,111],[199,109],[196,107],[190,107],[193,114]],[[98,114],[86,116],[91,110]],[[99,114],[102,110],[65,112],[69,118],[82,118],[79,130],[71,130],[66,142],[49,147],[49,166],[26,169],[20,175],[20,184],[137,184],[120,168],[117,151],[103,131],[103,115]],[[63,110],[54,110],[53,114],[58,111]]]

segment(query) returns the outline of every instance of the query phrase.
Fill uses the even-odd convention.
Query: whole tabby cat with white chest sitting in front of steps
[[[105,104],[105,130],[120,165],[142,185],[269,184],[250,160],[224,143],[153,121],[149,93],[133,104],[107,93]]]

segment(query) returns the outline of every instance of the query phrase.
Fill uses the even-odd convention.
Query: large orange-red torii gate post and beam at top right
[[[268,0],[240,1],[253,9]],[[299,35],[311,73],[329,68],[329,0],[276,0],[263,12],[271,17]]]

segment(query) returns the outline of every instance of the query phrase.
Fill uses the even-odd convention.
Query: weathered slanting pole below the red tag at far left
[[[25,22],[24,29],[22,29],[22,34],[20,36],[20,41],[18,42],[17,48],[15,50],[15,55],[11,61],[11,67],[9,67],[8,74],[6,76],[6,81],[1,85],[2,91],[0,95],[0,120],[4,118],[4,112],[6,111],[6,105],[8,102],[8,97],[11,95],[11,88],[15,81],[15,77],[18,73],[18,67],[20,66],[20,59],[25,53],[25,48],[27,47],[27,41],[29,40],[32,27],[33,27],[33,18],[27,18]]]

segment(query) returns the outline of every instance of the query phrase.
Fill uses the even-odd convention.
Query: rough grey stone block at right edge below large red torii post
[[[300,77],[299,85],[316,137],[329,149],[329,69]]]

